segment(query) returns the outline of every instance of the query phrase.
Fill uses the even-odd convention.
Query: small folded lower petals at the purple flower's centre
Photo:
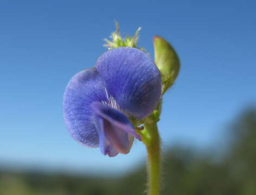
[[[93,102],[91,107],[97,124],[101,152],[110,156],[117,155],[116,152],[129,153],[133,137],[141,139],[130,120],[117,109],[103,103]]]

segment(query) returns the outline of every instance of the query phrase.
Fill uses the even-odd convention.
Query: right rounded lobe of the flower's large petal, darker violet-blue
[[[111,105],[137,119],[145,118],[156,108],[161,98],[161,75],[144,51],[111,49],[99,57],[95,67]]]

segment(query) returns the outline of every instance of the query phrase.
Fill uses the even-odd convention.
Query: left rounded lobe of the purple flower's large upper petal
[[[83,70],[69,81],[63,98],[63,115],[68,131],[80,144],[98,147],[91,103],[106,100],[105,87],[97,69]]]

